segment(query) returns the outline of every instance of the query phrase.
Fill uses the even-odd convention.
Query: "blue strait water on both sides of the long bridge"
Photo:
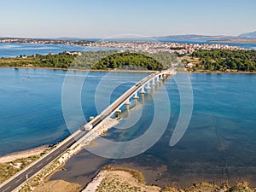
[[[0,69],[0,155],[52,144],[69,135],[61,110],[61,89],[65,74],[60,70]],[[102,87],[100,100],[110,94],[113,102],[146,73],[86,73],[68,74],[74,82],[85,79],[81,103],[85,119],[96,115],[95,94],[103,80],[118,82]],[[177,74],[182,76],[184,74]],[[26,80],[23,80],[26,79]],[[174,147],[169,146],[180,110],[180,96],[173,79],[167,79],[159,89],[151,90],[162,98],[166,87],[171,103],[171,117],[160,141],[143,154],[124,160],[108,160],[83,150],[67,162],[66,172],[57,172],[52,179],[61,178],[84,184],[104,165],[130,166],[146,173],[150,184],[164,186],[200,181],[231,182],[249,180],[256,185],[256,75],[254,74],[189,74],[194,93],[194,109],[184,137]],[[109,93],[110,92],[110,93]],[[102,97],[101,97],[102,96]],[[142,99],[142,96],[140,96]],[[143,115],[130,129],[113,129],[107,138],[127,141],[147,130],[154,116],[154,100],[145,95]],[[107,106],[102,102],[103,108]],[[165,108],[166,101],[162,101]],[[137,118],[137,110],[125,116],[117,127]],[[73,129],[83,123],[73,114]],[[155,127],[157,128],[157,127]],[[159,174],[160,173],[160,174]],[[88,181],[89,181],[88,180]],[[187,182],[187,183],[186,183]]]

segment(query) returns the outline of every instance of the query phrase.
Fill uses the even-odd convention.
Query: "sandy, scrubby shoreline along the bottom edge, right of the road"
[[[201,183],[191,183],[188,187],[166,185],[160,187],[158,185],[148,185],[144,181],[143,172],[137,169],[126,168],[123,166],[108,166],[102,167],[96,176],[92,178],[82,192],[109,191],[110,189],[122,189],[123,184],[127,184],[129,188],[142,189],[142,191],[160,192],[160,191],[230,191],[228,189],[236,189],[238,191],[255,191],[255,187],[250,186],[247,181],[241,183],[212,183],[208,182],[207,178]]]

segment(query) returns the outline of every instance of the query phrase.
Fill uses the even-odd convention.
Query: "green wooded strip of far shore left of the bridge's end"
[[[79,56],[78,56],[79,55]],[[1,58],[0,67],[51,67],[62,69],[129,69],[129,70],[163,70],[176,61],[174,55],[157,53],[118,53],[110,51],[85,51],[56,55],[20,55],[15,58]]]

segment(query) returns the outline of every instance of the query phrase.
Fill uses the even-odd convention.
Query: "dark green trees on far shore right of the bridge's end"
[[[186,62],[194,65],[193,71],[256,71],[256,50],[199,50]]]

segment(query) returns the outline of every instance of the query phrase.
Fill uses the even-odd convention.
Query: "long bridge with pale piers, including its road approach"
[[[178,63],[178,62],[177,62]],[[48,154],[45,154],[42,158],[32,163],[31,166],[26,167],[25,170],[18,172],[14,177],[10,177],[6,182],[0,185],[0,191],[9,192],[15,191],[20,188],[20,186],[25,183],[29,178],[35,176],[44,169],[45,166],[48,166],[51,162],[56,160],[61,154],[67,151],[68,148],[73,146],[73,144],[79,142],[79,140],[84,139],[84,137],[89,137],[96,125],[102,123],[104,119],[111,117],[114,113],[120,113],[120,108],[124,105],[129,107],[131,104],[131,99],[137,100],[138,93],[144,94],[145,90],[150,90],[151,86],[154,86],[156,82],[159,82],[161,79],[165,79],[166,76],[175,74],[177,64],[171,69],[164,71],[151,73],[146,78],[134,84],[131,89],[127,90],[122,96],[114,101],[111,105],[108,106],[105,110],[102,111],[96,118],[90,120],[90,122],[81,125],[78,131],[74,132],[73,135],[67,137],[63,140],[56,148],[52,149]],[[90,131],[84,131],[84,128],[89,127]]]

